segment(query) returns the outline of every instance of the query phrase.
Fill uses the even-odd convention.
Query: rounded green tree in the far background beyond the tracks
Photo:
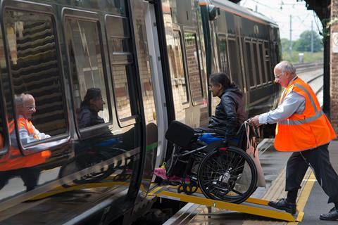
[[[313,51],[322,51],[323,45],[317,32],[306,30],[301,33],[301,36],[294,43],[296,51],[311,51],[311,33],[313,33]]]

